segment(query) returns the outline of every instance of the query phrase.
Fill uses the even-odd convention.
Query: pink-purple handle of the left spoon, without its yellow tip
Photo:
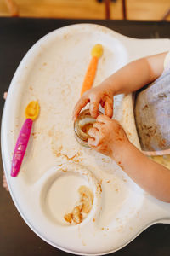
[[[31,135],[32,119],[26,119],[24,125],[20,130],[19,137],[17,139],[11,168],[11,176],[16,177],[20,171],[20,166],[24,155],[26,153],[27,144]]]

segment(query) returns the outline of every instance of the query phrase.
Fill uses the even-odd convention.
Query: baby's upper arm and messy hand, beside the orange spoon
[[[73,119],[77,119],[78,114],[88,102],[90,103],[90,113],[94,118],[98,115],[99,104],[105,108],[105,114],[112,117],[113,96],[139,90],[144,85],[157,79],[163,71],[163,62],[166,55],[167,53],[161,53],[133,61],[113,73],[99,86],[85,92],[77,102]]]

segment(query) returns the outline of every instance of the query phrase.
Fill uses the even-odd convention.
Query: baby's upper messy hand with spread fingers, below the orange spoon
[[[113,92],[109,90],[105,84],[100,84],[91,90],[86,91],[73,111],[73,119],[76,120],[78,114],[81,112],[88,102],[90,103],[90,114],[92,117],[97,118],[99,104],[102,108],[105,108],[105,115],[112,117],[113,115]]]

